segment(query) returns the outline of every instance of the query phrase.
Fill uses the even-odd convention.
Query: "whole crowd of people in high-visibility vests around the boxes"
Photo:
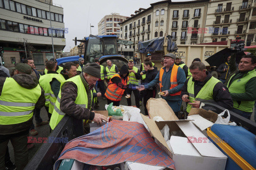
[[[87,125],[91,121],[99,124],[108,121],[106,116],[94,112],[99,107],[99,97],[107,99],[107,104],[119,106],[125,96],[127,105],[131,106],[133,93],[135,105],[139,108],[143,101],[148,115],[147,101],[155,98],[159,89],[177,116],[182,101],[188,113],[202,102],[210,102],[250,119],[256,99],[256,57],[242,56],[238,67],[235,60],[236,56],[231,55],[219,67],[220,79],[214,78],[199,58],[188,67],[174,54],[163,56],[159,71],[150,54],[140,69],[134,66],[133,60],[120,70],[111,60],[106,61],[106,67],[100,65],[98,58],[84,65],[82,57],[63,67],[52,58],[46,62],[43,74],[35,69],[33,58],[17,64],[11,74],[0,65],[0,169],[12,164],[9,141],[14,148],[17,169],[26,166],[28,149],[34,145],[28,145],[27,137],[29,133],[38,134],[35,126],[50,124],[52,131],[67,114],[84,120],[84,132],[89,133]],[[40,116],[43,107],[47,121]]]

